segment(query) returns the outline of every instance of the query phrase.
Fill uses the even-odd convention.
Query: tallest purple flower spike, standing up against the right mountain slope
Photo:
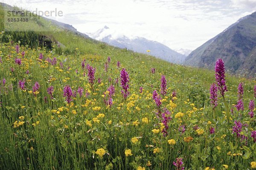
[[[227,91],[225,77],[224,62],[222,59],[217,59],[215,64],[215,79],[222,96],[224,96],[225,92]]]

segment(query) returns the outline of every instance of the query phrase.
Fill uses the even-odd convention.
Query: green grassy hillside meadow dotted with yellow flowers
[[[233,108],[228,123],[223,98],[214,112],[210,104],[214,71],[174,65],[65,30],[29,34],[64,46],[49,50],[36,41],[25,46],[27,32],[1,34],[9,39],[0,43],[0,169],[167,170],[177,169],[176,158],[183,158],[186,170],[223,169],[223,164],[251,168],[256,119],[248,115],[248,105],[255,100],[255,80],[226,75],[225,100]],[[24,44],[16,46],[19,35]],[[89,65],[96,68],[94,80]],[[121,93],[122,68],[129,75],[127,99]],[[166,94],[160,93],[162,75]],[[243,111],[233,106],[239,82]],[[159,107],[154,90],[162,98]],[[244,125],[239,136],[234,121]]]

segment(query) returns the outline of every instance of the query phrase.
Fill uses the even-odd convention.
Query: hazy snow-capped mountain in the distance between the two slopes
[[[148,54],[147,50],[150,50],[150,55],[168,62],[181,64],[186,58],[185,55],[177,53],[160,42],[147,40],[143,37],[128,38],[125,35],[118,34],[116,31],[111,30],[107,26],[94,33],[86,34],[95,40],[106,42],[119,48],[127,48],[129,50],[144,54]]]

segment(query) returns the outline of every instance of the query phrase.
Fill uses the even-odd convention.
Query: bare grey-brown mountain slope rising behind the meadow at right
[[[232,73],[256,76],[256,12],[192,51],[184,64],[212,69],[218,58]]]

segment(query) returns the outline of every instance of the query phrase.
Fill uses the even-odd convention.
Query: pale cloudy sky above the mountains
[[[1,0],[28,10],[57,8],[78,31],[95,32],[105,25],[116,35],[145,37],[172,49],[191,49],[256,11],[256,0]]]

